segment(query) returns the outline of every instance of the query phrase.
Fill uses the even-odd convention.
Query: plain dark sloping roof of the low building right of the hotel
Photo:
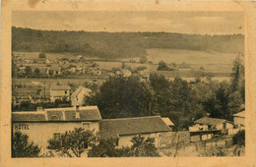
[[[103,139],[167,131],[170,129],[160,116],[105,119],[99,122],[99,134]]]

